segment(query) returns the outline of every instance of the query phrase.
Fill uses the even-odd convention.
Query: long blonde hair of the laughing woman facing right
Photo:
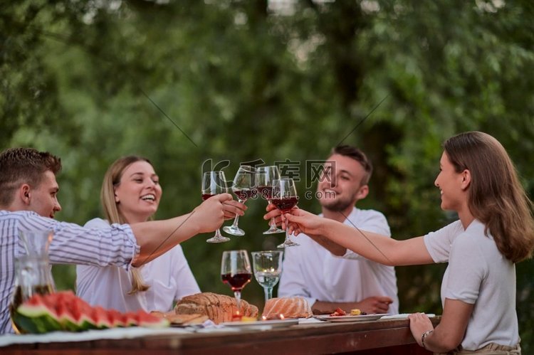
[[[125,169],[136,161],[147,161],[148,164],[152,165],[148,159],[131,155],[115,160],[104,175],[102,189],[100,190],[100,202],[102,203],[104,216],[110,223],[128,223],[126,218],[120,213],[119,208],[117,208],[115,188],[119,186],[122,173]],[[130,275],[132,275],[132,290],[128,292],[128,295],[135,295],[137,292],[144,292],[149,289],[150,286],[145,284],[138,268],[132,267],[130,269]]]

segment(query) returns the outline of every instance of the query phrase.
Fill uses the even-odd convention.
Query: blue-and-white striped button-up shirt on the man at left
[[[53,264],[130,267],[139,246],[127,225],[83,228],[31,211],[0,211],[0,334],[13,332],[9,302],[15,285],[15,259],[22,253],[21,231],[53,231],[48,256]]]

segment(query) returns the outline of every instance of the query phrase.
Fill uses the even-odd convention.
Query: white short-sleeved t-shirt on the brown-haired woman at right
[[[497,249],[477,220],[466,228],[460,221],[424,236],[435,263],[449,262],[441,283],[445,299],[474,304],[461,346],[480,349],[489,343],[515,346],[519,341],[515,313],[515,265]]]

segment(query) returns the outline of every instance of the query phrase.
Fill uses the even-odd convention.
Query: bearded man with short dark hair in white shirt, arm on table
[[[320,216],[391,236],[382,213],[355,207],[369,194],[372,165],[365,154],[355,147],[335,147],[324,167],[316,194],[323,212]],[[323,248],[332,242],[320,236],[309,237],[300,237],[298,247],[286,248],[279,297],[304,297],[315,314],[332,313],[337,307],[368,314],[399,312],[394,267],[350,250],[337,257]]]

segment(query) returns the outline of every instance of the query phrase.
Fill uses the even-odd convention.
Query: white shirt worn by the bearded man
[[[391,235],[386,218],[377,211],[353,208],[344,223]],[[367,260],[352,251],[337,257],[304,234],[295,241],[300,246],[284,250],[279,297],[304,297],[312,306],[317,300],[359,302],[367,297],[389,296],[393,303],[388,313],[399,312],[394,267]]]

